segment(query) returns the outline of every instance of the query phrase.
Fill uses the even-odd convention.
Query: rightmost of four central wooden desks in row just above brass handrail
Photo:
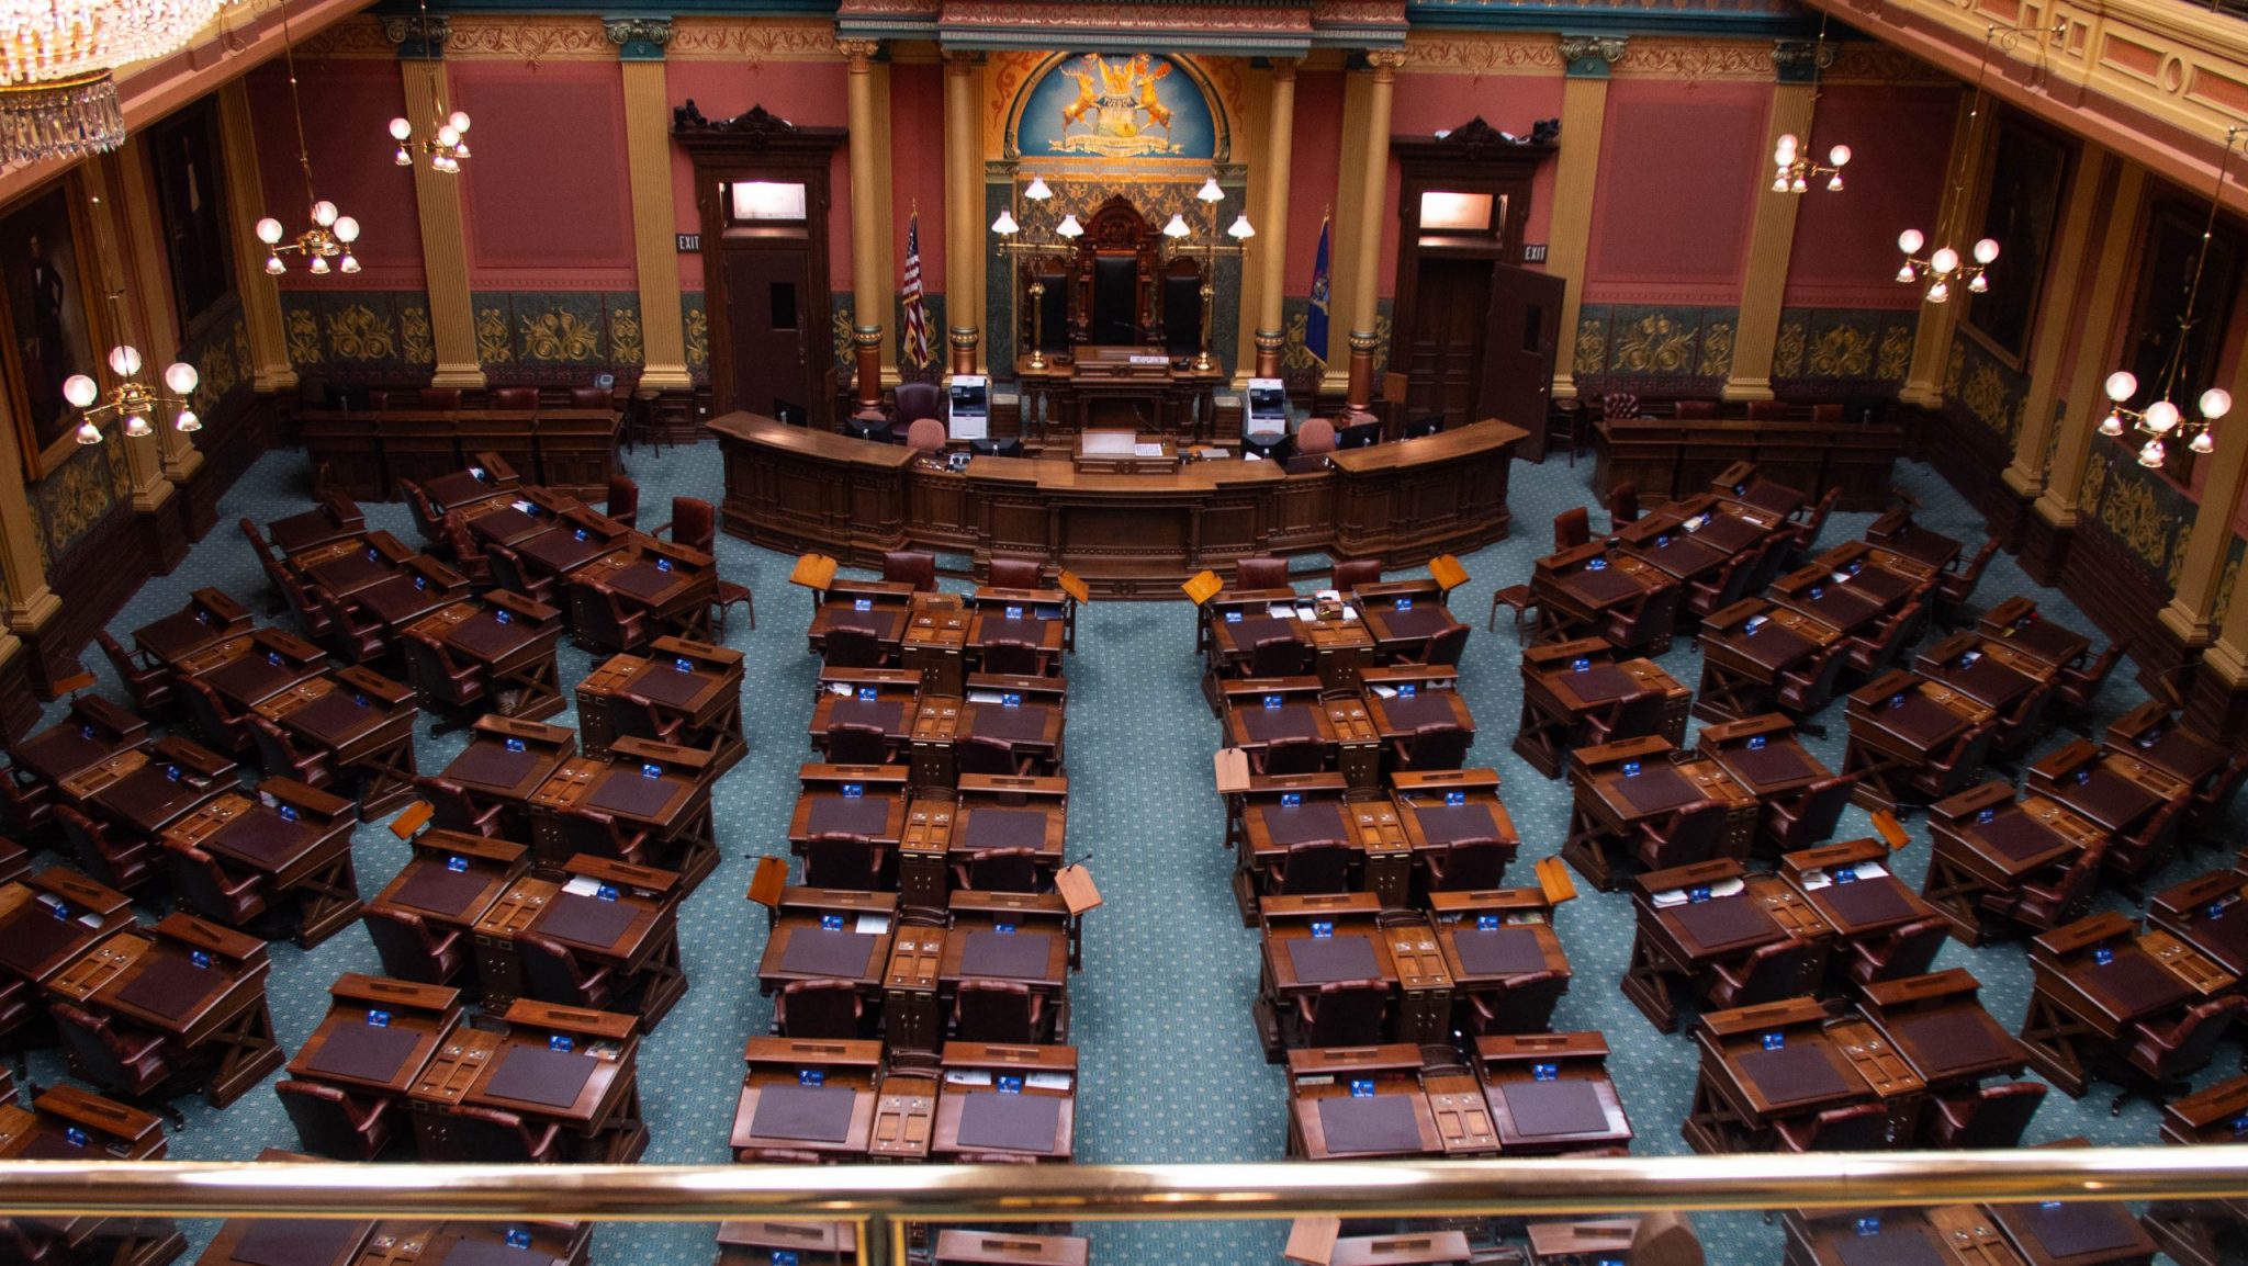
[[[1479,1037],[1470,1052],[1502,1156],[1630,1147],[1632,1122],[1607,1079],[1596,1032]]]

